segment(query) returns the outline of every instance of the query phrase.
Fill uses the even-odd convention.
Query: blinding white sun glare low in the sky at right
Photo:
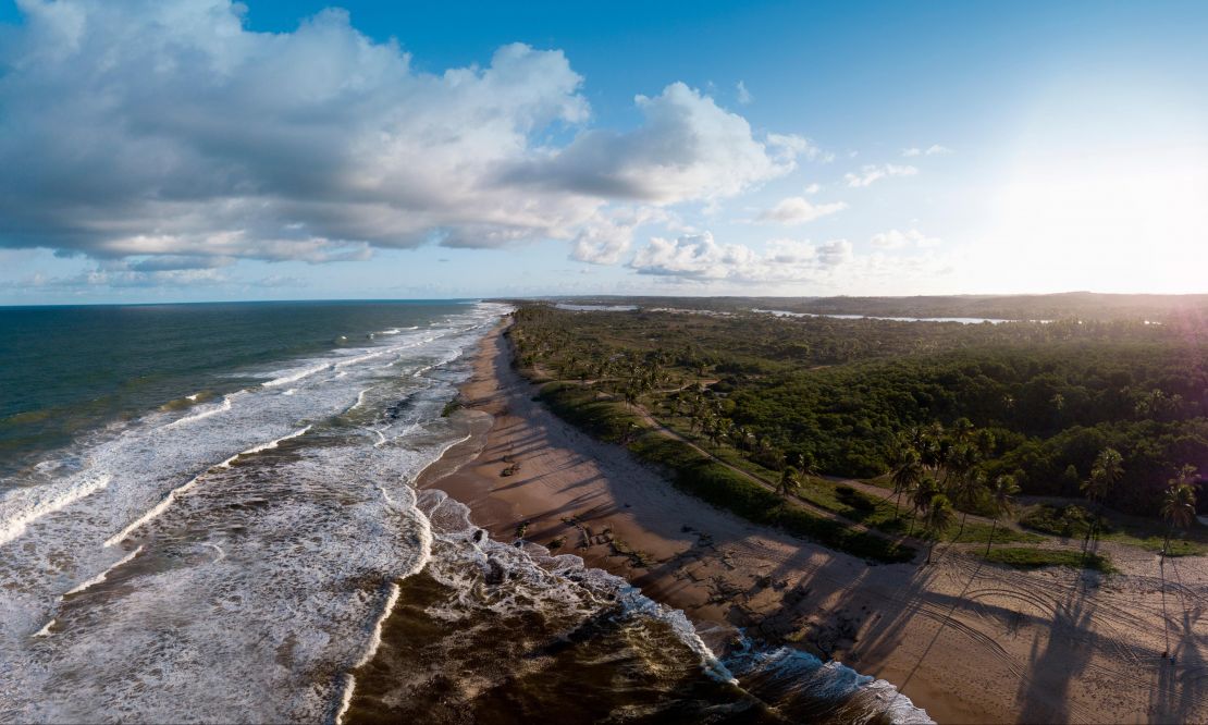
[[[993,203],[991,244],[1020,291],[1203,286],[1208,153],[1190,144],[1022,160]]]

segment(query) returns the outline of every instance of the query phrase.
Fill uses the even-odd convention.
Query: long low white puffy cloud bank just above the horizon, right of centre
[[[629,267],[639,274],[684,280],[757,284],[811,279],[850,260],[852,244],[847,239],[817,245],[777,239],[757,253],[744,244],[719,244],[712,233],[702,232],[675,239],[655,237],[638,250]]]

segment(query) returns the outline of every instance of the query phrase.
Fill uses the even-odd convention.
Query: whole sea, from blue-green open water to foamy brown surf
[[[0,721],[928,721],[416,489],[506,312],[0,308]]]

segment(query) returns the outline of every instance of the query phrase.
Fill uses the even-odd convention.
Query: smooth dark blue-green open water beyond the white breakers
[[[221,395],[256,365],[364,344],[459,301],[0,307],[0,477],[80,433],[198,390]]]

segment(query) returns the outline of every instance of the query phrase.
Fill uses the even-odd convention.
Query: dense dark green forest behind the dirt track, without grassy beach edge
[[[1105,503],[1152,516],[1208,468],[1208,342],[1143,320],[901,323],[749,312],[571,312],[528,304],[523,362],[643,396],[768,469],[873,478],[928,427],[976,431],[978,469],[1076,497],[1105,448]],[[1201,497],[1203,499],[1204,497]]]

